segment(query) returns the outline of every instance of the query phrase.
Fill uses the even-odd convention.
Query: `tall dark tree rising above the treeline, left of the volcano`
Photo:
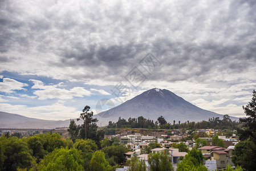
[[[91,125],[92,123],[96,123],[98,120],[97,118],[92,118],[94,116],[94,112],[90,111],[90,106],[86,105],[83,109],[83,113],[80,113],[80,117],[77,119],[78,121],[82,119],[84,121],[84,135],[85,139],[87,139],[87,133],[88,133],[88,125]]]

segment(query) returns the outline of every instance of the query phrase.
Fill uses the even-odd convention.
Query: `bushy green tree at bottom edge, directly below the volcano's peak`
[[[174,170],[172,166],[172,162],[169,160],[168,156],[169,152],[156,152],[156,153],[150,153],[148,155],[148,164],[149,169],[151,171],[164,171],[164,170]]]

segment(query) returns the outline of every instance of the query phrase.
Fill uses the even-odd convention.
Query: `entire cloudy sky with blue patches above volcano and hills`
[[[256,89],[255,9],[246,0],[0,1],[0,111],[64,120],[157,87],[243,117]]]

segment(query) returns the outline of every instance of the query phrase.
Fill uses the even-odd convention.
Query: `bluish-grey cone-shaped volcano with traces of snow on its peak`
[[[108,117],[109,113],[111,117]],[[99,113],[98,116],[101,118],[98,118],[101,123],[110,120],[117,121],[118,117],[128,119],[139,116],[156,121],[161,115],[169,122],[176,120],[176,123],[177,121],[202,121],[212,117],[220,117],[220,119],[223,117],[223,115],[196,107],[167,89],[153,88],[113,109]],[[230,117],[230,119],[238,120],[236,117]]]

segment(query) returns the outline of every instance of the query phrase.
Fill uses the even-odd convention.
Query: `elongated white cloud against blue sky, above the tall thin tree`
[[[87,91],[86,89],[82,87],[74,87],[70,90],[64,89],[64,88],[58,88],[62,87],[63,83],[59,83],[56,85],[50,85],[50,86],[44,86],[44,83],[40,80],[30,80],[34,83],[34,86],[32,86],[35,90],[33,93],[34,95],[38,96],[39,100],[46,100],[46,99],[61,99],[61,100],[67,100],[67,99],[73,99],[74,97],[84,97],[84,96],[91,96],[91,92]]]

